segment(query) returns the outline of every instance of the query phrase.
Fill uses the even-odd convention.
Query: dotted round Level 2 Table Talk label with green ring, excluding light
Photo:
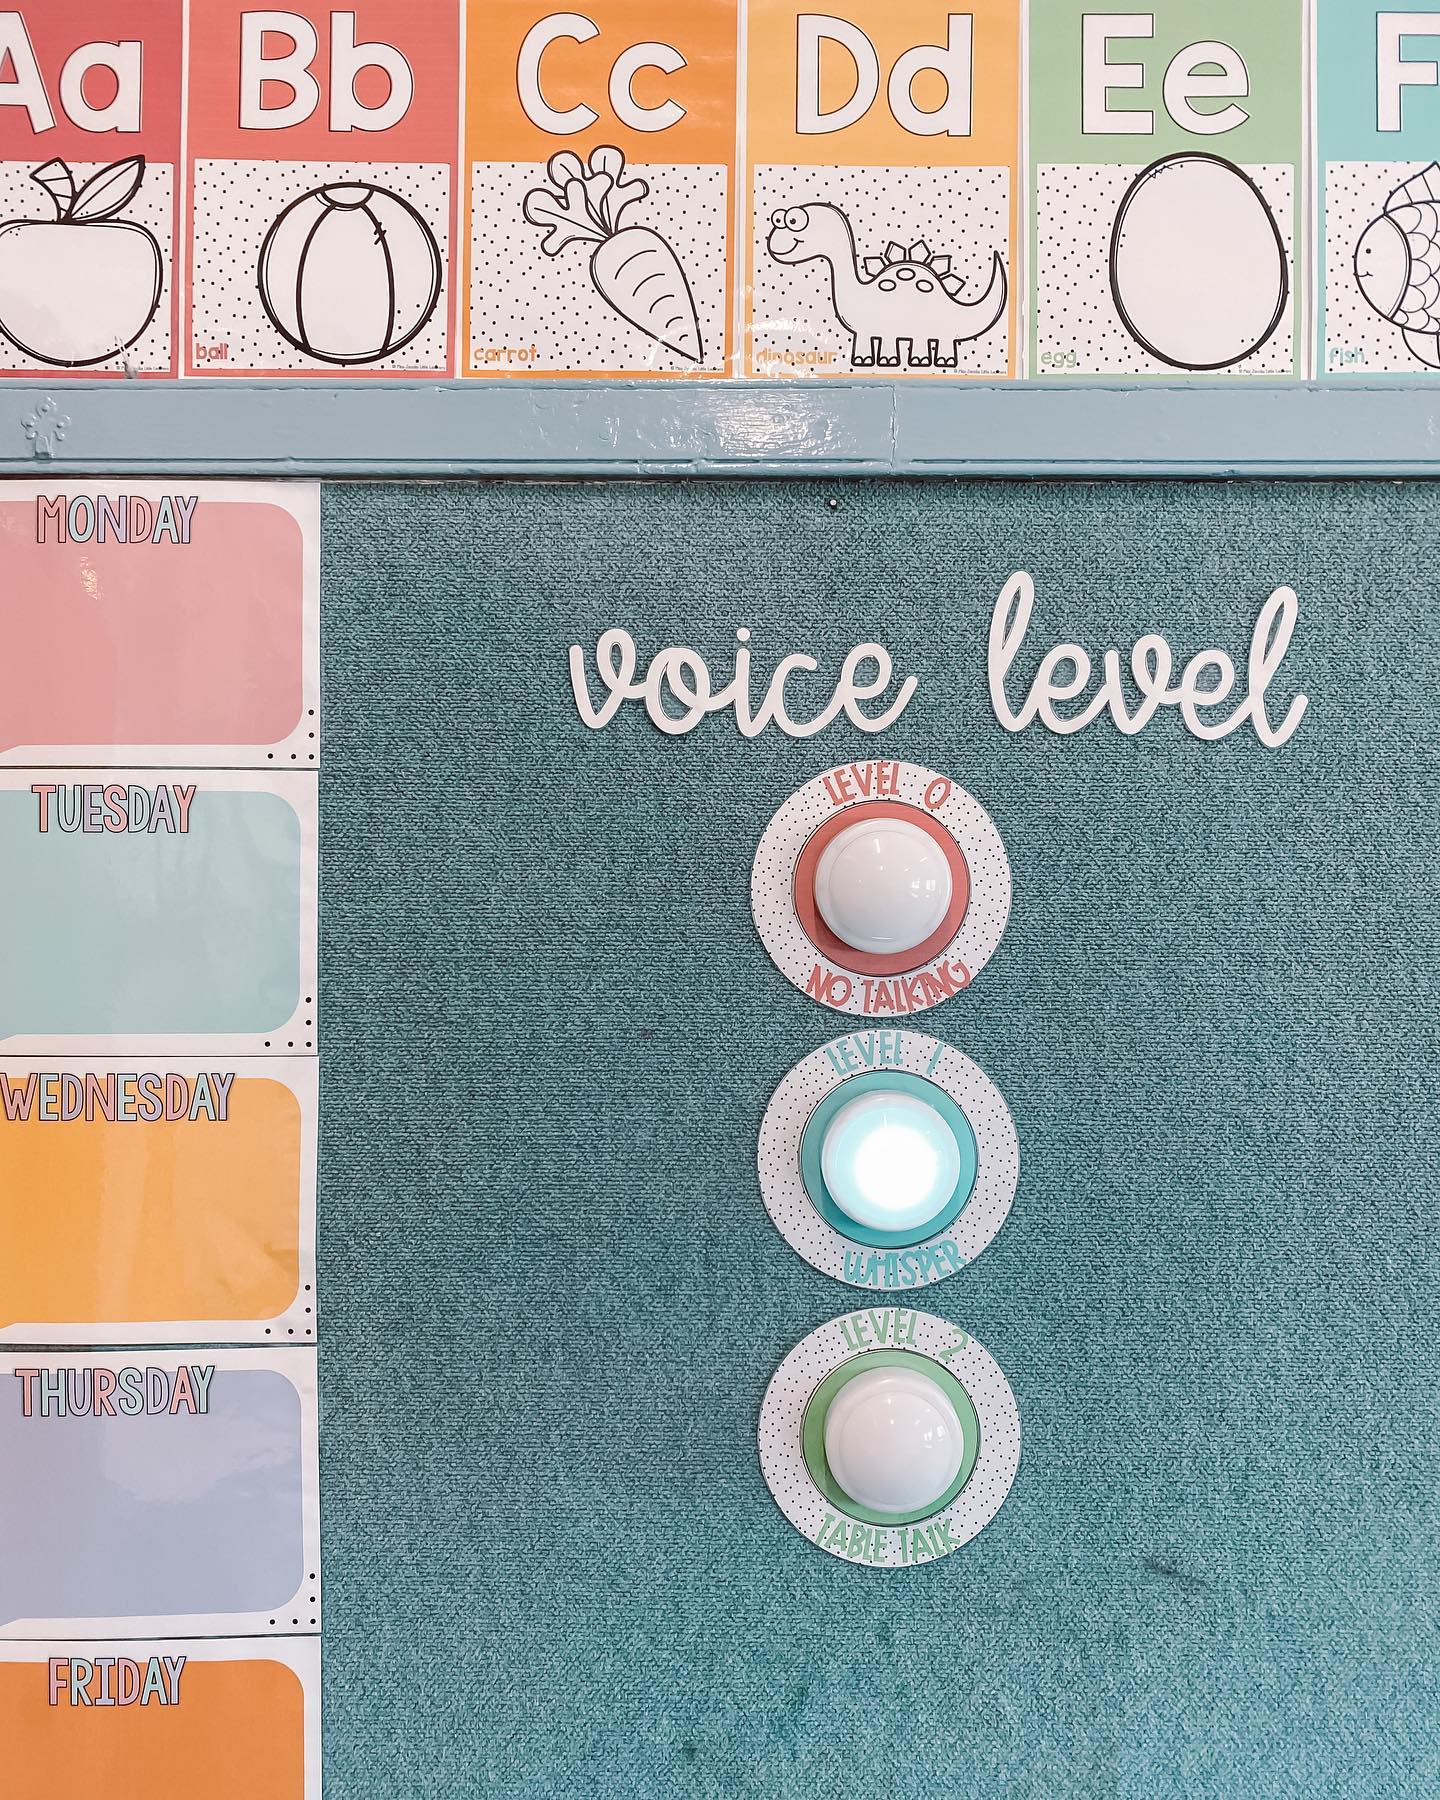
[[[824,1413],[855,1375],[898,1368],[934,1382],[963,1438],[936,1510],[884,1519],[850,1499],[824,1456]],[[905,1568],[959,1550],[995,1517],[1021,1467],[1021,1413],[990,1352],[929,1312],[848,1312],[785,1357],[760,1409],[760,1467],[785,1517],[846,1562]]]

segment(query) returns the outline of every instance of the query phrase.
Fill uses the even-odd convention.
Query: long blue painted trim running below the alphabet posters
[[[5,475],[1440,473],[1435,383],[70,382],[7,398]]]

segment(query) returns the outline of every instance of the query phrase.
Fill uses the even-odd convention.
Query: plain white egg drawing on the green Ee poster
[[[1161,157],[1134,178],[1111,234],[1111,293],[1139,347],[1172,369],[1233,369],[1291,299],[1265,196],[1224,157]]]

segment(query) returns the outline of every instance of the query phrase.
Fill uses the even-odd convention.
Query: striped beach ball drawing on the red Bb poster
[[[259,252],[270,324],[320,362],[394,356],[430,322],[439,292],[434,232],[409,200],[367,182],[301,194]]]

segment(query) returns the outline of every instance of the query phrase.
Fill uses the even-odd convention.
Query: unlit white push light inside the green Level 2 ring
[[[877,1368],[846,1382],[824,1418],[824,1460],[868,1512],[923,1512],[959,1474],[965,1433],[940,1382]]]

